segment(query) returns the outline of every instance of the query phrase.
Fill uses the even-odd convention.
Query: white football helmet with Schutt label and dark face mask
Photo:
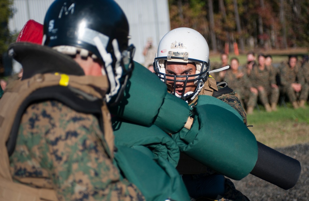
[[[169,75],[165,70],[167,61],[192,63],[196,66],[196,72],[191,75]],[[200,33],[192,28],[182,27],[173,29],[163,36],[155,58],[155,73],[163,82],[174,83],[167,84],[172,94],[185,101],[193,100],[204,86],[209,71],[209,47]],[[179,84],[176,86],[176,82],[183,83],[182,90],[179,90]],[[187,84],[192,82],[196,86],[195,90],[185,93]]]

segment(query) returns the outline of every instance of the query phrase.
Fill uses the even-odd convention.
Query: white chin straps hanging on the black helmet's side
[[[121,53],[118,48],[118,42],[116,39],[112,41],[112,46],[114,49],[114,54],[116,57],[116,65],[115,65],[115,72],[116,75],[113,73],[113,68],[112,68],[112,55],[110,53],[107,53],[105,50],[101,40],[99,37],[94,37],[93,41],[95,42],[95,46],[99,50],[99,53],[105,63],[105,69],[107,72],[108,80],[110,83],[110,92],[109,94],[106,94],[106,101],[109,102],[112,98],[113,95],[117,94],[119,88],[120,88],[120,78],[122,76],[122,68],[120,66],[120,61],[121,61]],[[105,71],[102,68],[102,74],[105,75]]]

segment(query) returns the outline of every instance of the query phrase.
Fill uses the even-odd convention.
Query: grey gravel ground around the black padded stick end
[[[232,180],[251,201],[308,201],[309,200],[309,144],[299,144],[277,151],[297,159],[302,171],[297,184],[290,190],[283,190],[267,181],[249,174],[241,181]]]

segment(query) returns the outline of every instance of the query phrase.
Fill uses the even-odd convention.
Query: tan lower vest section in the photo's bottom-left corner
[[[54,190],[39,189],[0,178],[1,201],[57,201]]]

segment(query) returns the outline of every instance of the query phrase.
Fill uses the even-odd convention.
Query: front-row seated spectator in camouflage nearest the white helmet
[[[230,61],[230,69],[226,71],[225,80],[238,94],[238,98],[243,108],[246,108],[247,114],[253,113],[253,108],[257,103],[258,91],[252,87],[246,73],[239,70],[239,60],[233,57]],[[245,107],[246,106],[246,107]]]

